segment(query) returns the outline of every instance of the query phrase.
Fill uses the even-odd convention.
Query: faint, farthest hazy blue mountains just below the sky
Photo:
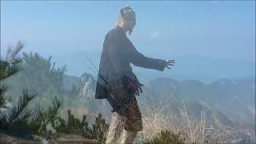
[[[145,54],[151,58],[168,58],[166,54]],[[90,58],[90,61],[86,58]],[[90,73],[97,78],[97,70],[101,57],[100,51],[74,52],[70,55],[54,55],[53,61],[58,65],[66,65],[66,74],[80,76],[84,72]],[[220,78],[253,78],[255,79],[255,61],[245,61],[228,58],[211,58],[201,55],[185,55],[175,59],[175,65],[171,70],[163,72],[149,70],[141,67],[133,67],[134,73],[138,75],[141,82],[150,82],[154,78],[166,77],[179,81],[186,79],[197,79],[201,82],[211,83]],[[94,66],[93,66],[94,65]],[[90,68],[88,68],[88,66]],[[95,68],[97,70],[95,70]],[[94,70],[94,71],[92,71]]]

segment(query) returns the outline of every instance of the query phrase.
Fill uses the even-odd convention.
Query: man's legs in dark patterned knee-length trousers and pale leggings
[[[120,85],[122,86],[122,85]],[[126,93],[121,88],[113,89],[106,98],[113,107],[114,116],[110,122],[106,144],[132,144],[137,131],[142,130],[142,116],[134,95]],[[120,121],[118,121],[118,118]],[[122,134],[118,141],[118,137]]]

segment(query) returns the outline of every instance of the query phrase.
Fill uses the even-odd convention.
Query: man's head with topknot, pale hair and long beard
[[[129,34],[132,33],[134,26],[136,25],[136,17],[134,10],[132,10],[130,6],[122,8],[120,10],[116,25],[121,26],[122,29],[125,30],[125,32],[128,31]]]

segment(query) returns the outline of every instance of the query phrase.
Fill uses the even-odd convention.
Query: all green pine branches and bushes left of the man
[[[61,91],[61,89],[59,88],[62,85],[61,81],[65,71],[65,67],[63,67],[62,69],[54,70],[54,67],[51,68],[51,66],[49,65],[50,59],[46,61],[38,57],[38,54],[30,54],[30,56],[24,54],[23,59],[15,58],[16,54],[18,54],[18,51],[21,50],[22,47],[22,42],[19,42],[16,46],[16,49],[12,52],[10,51],[11,54],[9,55],[11,57],[6,57],[6,60],[1,59],[0,62],[0,132],[21,138],[32,138],[31,134],[36,134],[38,136],[41,136],[42,138],[50,139],[52,132],[56,131],[66,134],[78,134],[82,135],[85,138],[94,138],[98,139],[99,142],[105,142],[108,124],[106,123],[105,118],[102,118],[102,114],[98,114],[93,124],[93,127],[90,128],[88,126],[88,122],[86,122],[86,115],[83,115],[82,121],[80,121],[78,118],[75,118],[74,114],[71,114],[69,110],[67,120],[60,117],[59,112],[62,109],[63,104],[58,99],[58,96],[54,98],[48,96],[48,98],[52,98],[50,100],[51,104],[50,106],[48,106],[48,108],[43,108],[42,106],[38,105],[38,103],[36,104],[36,107],[30,107],[30,104],[35,104],[35,102],[33,101],[38,97],[38,93],[30,92],[31,87],[30,90],[22,90],[21,97],[14,95],[10,97],[6,95],[7,90],[10,88],[10,86],[6,86],[6,84],[4,84],[4,81],[7,78],[11,78],[15,74],[18,74],[18,72],[21,70],[31,71],[33,77],[33,74],[36,73],[35,71],[33,71],[35,69],[34,67],[38,68],[39,66],[41,66],[41,69],[44,69],[44,71],[37,71],[37,77],[40,74],[46,74],[49,75],[49,77],[53,77],[54,84],[52,84],[51,86],[54,86],[55,90]],[[31,68],[30,62],[38,62],[40,63],[40,65]],[[25,81],[25,83],[29,82]],[[38,85],[40,84],[38,83]],[[37,86],[37,84],[34,84],[33,86]],[[14,103],[11,100],[12,98],[18,98],[18,102],[16,105],[14,104],[14,106],[11,105],[11,103]],[[45,103],[41,104],[44,105]]]

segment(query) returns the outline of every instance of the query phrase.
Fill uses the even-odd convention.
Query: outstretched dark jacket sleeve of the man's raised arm
[[[130,62],[134,64],[134,66],[141,66],[148,69],[160,70],[163,71],[166,66],[165,60],[162,59],[155,59],[155,58],[148,58],[138,52],[134,45],[128,39],[128,50],[130,55]]]

